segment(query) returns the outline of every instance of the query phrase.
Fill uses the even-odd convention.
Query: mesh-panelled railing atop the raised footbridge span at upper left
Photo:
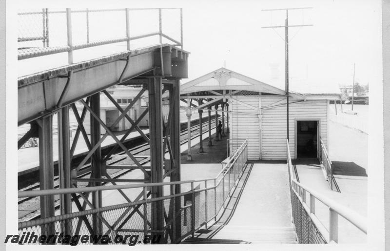
[[[174,17],[180,19],[180,27],[167,28],[163,25],[163,15],[168,17],[167,26]],[[152,19],[158,22],[153,23]],[[75,22],[78,25],[72,27]],[[183,48],[181,8],[42,9],[18,13],[18,23],[18,60],[68,52],[68,62],[73,63],[75,50],[126,42],[126,49],[130,51],[131,41],[156,36],[158,41],[154,44],[162,44],[166,39]],[[141,23],[148,26],[141,27]],[[167,32],[163,32],[163,26]]]

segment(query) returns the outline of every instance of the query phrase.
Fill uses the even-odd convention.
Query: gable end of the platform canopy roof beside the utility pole
[[[223,67],[180,86],[180,94],[210,90],[245,90],[278,95],[285,94],[284,90]]]

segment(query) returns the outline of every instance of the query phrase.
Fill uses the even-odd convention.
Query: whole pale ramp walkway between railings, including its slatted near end
[[[286,164],[249,163],[226,210],[184,244],[296,243]]]

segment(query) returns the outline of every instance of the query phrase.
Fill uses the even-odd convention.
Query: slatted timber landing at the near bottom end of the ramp
[[[218,230],[219,229],[219,230]],[[260,244],[260,243],[297,243],[294,228],[291,227],[243,227],[212,226],[207,230],[211,234],[201,233],[185,239],[182,244]],[[205,232],[200,230],[198,232]],[[195,233],[196,234],[196,233]]]

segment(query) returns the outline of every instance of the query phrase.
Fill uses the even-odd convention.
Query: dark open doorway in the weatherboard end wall
[[[317,158],[318,121],[296,121],[297,158]]]

